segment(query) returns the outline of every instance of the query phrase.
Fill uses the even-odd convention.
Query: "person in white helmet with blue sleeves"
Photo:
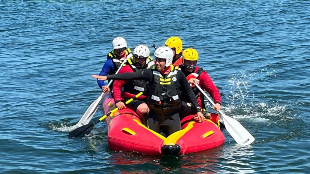
[[[99,75],[105,76],[108,74],[115,74],[117,69],[121,66],[123,59],[127,58],[127,55],[131,53],[131,50],[127,48],[127,42],[122,37],[116,37],[112,41],[113,50],[108,53],[107,61],[104,63]],[[109,90],[107,86],[104,85],[104,81],[97,80],[99,87],[103,92]]]

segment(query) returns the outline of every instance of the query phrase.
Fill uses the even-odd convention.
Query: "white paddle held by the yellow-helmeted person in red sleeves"
[[[215,103],[211,98],[201,89],[199,85],[195,83],[196,87],[200,92],[209,100],[209,102],[215,106]],[[232,138],[240,145],[246,146],[251,144],[255,138],[244,128],[237,120],[225,115],[222,111],[219,110],[219,113],[222,115],[224,120],[224,125],[228,133]]]

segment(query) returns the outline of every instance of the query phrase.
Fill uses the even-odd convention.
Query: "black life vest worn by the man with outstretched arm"
[[[178,112],[181,99],[181,87],[176,77],[178,69],[171,65],[171,71],[162,75],[153,71],[153,84],[149,87],[148,105],[156,113]]]

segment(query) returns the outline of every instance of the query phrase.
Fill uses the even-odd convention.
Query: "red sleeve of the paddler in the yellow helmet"
[[[200,80],[199,85],[201,88],[205,89],[210,94],[210,96],[213,98],[213,101],[215,103],[221,103],[221,95],[219,94],[219,90],[214,85],[208,73],[202,72],[198,77],[198,80]]]

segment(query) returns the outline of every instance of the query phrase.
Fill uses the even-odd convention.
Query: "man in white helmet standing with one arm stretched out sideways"
[[[178,110],[182,95],[187,95],[197,110],[197,116],[193,117],[193,119],[202,122],[203,115],[193,90],[189,86],[184,73],[172,65],[173,51],[171,48],[159,47],[154,56],[156,69],[144,69],[138,72],[108,76],[92,75],[92,77],[99,80],[147,80],[149,82],[147,105],[150,109],[147,126],[157,133],[160,133],[162,127],[166,128],[167,136],[181,130]],[[182,94],[182,92],[185,94]]]

